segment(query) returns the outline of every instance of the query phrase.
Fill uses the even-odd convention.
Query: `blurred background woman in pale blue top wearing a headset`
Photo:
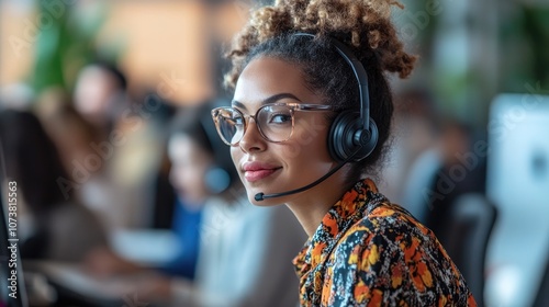
[[[288,208],[249,204],[210,110],[208,104],[188,110],[173,121],[168,143],[177,191],[172,229],[182,253],[164,274],[136,283],[139,298],[170,306],[295,306],[291,261],[306,236]],[[90,262],[92,271],[145,270],[103,257]]]

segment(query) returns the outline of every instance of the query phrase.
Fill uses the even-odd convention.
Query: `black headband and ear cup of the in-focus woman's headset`
[[[310,33],[295,33],[315,37]],[[368,75],[365,67],[341,42],[329,37],[337,53],[352,69],[358,82],[360,112],[343,111],[332,123],[328,135],[328,150],[332,158],[341,162],[345,160],[358,162],[368,157],[378,144],[378,126],[370,117],[370,94],[368,91]]]

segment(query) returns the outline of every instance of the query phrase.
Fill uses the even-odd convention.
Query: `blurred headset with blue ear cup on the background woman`
[[[225,192],[236,177],[236,169],[233,164],[227,147],[217,135],[215,125],[212,122],[210,106],[201,107],[199,111],[200,126],[204,130],[204,135],[212,146],[214,154],[214,164],[204,174],[204,184],[212,194]]]

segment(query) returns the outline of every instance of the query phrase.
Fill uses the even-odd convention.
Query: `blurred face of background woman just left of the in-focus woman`
[[[213,158],[192,138],[180,134],[170,137],[168,156],[171,160],[170,182],[178,195],[190,204],[201,204],[209,192],[204,174]]]

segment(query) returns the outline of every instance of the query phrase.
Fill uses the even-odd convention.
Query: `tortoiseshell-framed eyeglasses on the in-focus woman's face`
[[[256,115],[244,115],[238,109],[221,106],[212,110],[212,117],[221,139],[229,146],[240,143],[251,117],[260,135],[268,141],[282,143],[292,137],[295,111],[332,111],[332,105],[303,103],[269,103],[259,107]]]

